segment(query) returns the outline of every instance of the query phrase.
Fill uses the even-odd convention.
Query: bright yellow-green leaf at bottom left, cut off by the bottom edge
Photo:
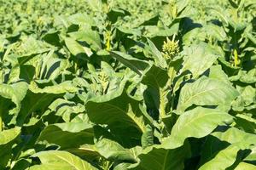
[[[38,157],[41,161],[41,165],[34,165],[29,167],[29,170],[41,169],[41,170],[96,170],[87,161],[80,159],[78,156],[74,156],[67,151],[61,150],[47,150],[38,152],[32,157]]]

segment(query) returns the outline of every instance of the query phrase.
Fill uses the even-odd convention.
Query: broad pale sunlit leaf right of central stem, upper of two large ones
[[[181,89],[177,111],[185,111],[191,105],[221,105],[229,108],[238,92],[225,82],[201,77],[192,83],[187,83]]]

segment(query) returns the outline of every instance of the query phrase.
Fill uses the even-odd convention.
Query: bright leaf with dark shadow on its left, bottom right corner
[[[230,167],[235,163],[239,150],[251,149],[251,145],[256,144],[256,135],[245,133],[235,127],[230,127],[225,132],[212,133],[212,137],[216,137],[218,141],[210,138],[206,142],[206,148],[203,150],[203,156],[201,157],[201,162],[204,162],[204,164],[200,169],[225,169]],[[209,150],[211,150],[210,153]]]

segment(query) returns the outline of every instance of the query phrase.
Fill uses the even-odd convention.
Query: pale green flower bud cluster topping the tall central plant
[[[166,59],[173,59],[179,52],[178,41],[175,41],[175,35],[172,37],[172,41],[166,37],[162,47],[162,54]]]

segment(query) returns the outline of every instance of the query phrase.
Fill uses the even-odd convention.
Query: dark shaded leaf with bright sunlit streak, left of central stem
[[[114,122],[122,122],[124,127],[136,127],[140,132],[144,132],[143,116],[137,106],[136,100],[122,94],[106,102],[89,101],[86,104],[86,111],[92,122],[109,126],[115,126]]]

